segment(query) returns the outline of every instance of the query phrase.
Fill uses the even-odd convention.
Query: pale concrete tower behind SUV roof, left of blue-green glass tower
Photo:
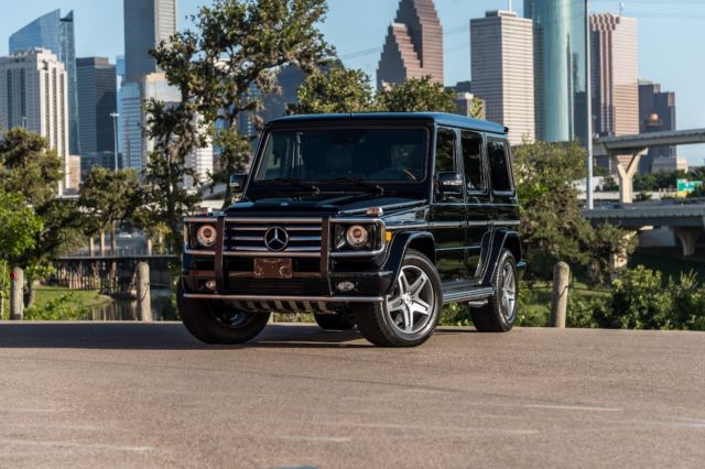
[[[473,94],[485,101],[487,120],[509,127],[517,145],[533,141],[533,29],[511,11],[489,11],[470,20]]]

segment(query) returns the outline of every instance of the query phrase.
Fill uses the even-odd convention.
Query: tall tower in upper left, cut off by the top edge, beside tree
[[[176,0],[124,0],[124,78],[158,72],[149,52],[176,33]]]

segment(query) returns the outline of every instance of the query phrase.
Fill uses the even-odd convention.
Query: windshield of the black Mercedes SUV
[[[426,141],[423,128],[272,131],[256,179],[422,181]]]

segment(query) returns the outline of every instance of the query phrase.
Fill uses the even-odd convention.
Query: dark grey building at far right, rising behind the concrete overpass
[[[675,92],[661,91],[661,85],[639,81],[639,133],[675,130]],[[671,160],[677,165],[675,146],[653,146],[641,159],[639,172],[648,173],[654,161]]]

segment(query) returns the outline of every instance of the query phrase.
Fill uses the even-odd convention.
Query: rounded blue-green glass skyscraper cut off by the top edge
[[[524,0],[533,20],[536,138],[587,140],[585,0]]]

